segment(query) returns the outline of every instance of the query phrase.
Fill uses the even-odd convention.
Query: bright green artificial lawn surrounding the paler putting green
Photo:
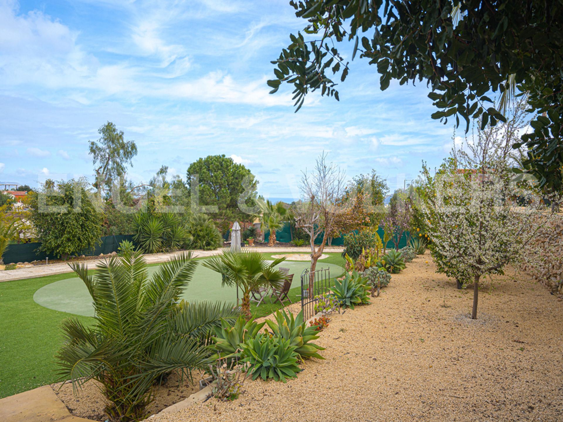
[[[263,255],[272,259],[272,254]],[[340,254],[328,255],[319,261],[317,268],[323,263],[344,266]],[[331,273],[332,277],[341,275]],[[0,398],[56,381],[53,356],[62,340],[61,322],[69,317],[78,318],[84,324],[93,321],[91,317],[44,308],[33,300],[35,291],[43,286],[73,277],[73,273],[66,273],[0,283]],[[288,296],[295,303],[300,300],[300,274],[295,274],[293,286],[296,287],[289,290]],[[251,311],[257,317],[269,315],[278,308],[279,303],[262,302],[260,307],[251,304]]]

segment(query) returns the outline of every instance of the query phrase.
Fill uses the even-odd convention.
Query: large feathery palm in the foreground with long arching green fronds
[[[172,371],[191,379],[192,370],[207,369],[213,327],[221,318],[234,323],[240,314],[227,305],[178,303],[196,265],[182,254],[149,279],[140,252],[99,264],[95,275],[84,264],[71,264],[92,296],[95,322],[63,323],[59,374],[75,391],[98,381],[110,420],[145,419],[155,381]]]

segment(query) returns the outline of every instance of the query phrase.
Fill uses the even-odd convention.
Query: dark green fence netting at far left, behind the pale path
[[[100,243],[95,246],[95,248],[90,250],[85,250],[77,255],[93,256],[99,254],[109,254],[111,252],[117,252],[119,244],[124,241],[133,241],[133,235],[117,235],[117,236],[103,236],[100,239]],[[17,263],[17,262],[32,262],[41,261],[42,259],[49,258],[55,259],[59,258],[53,254],[46,254],[44,252],[38,252],[38,248],[41,243],[21,243],[12,244],[8,246],[8,249],[3,255],[3,261],[7,264]]]

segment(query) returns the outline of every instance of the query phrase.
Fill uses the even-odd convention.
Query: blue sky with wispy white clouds
[[[287,198],[322,151],[391,188],[439,164],[453,127],[430,118],[426,84],[382,92],[356,58],[339,102],[310,95],[295,114],[289,87],[268,94],[270,60],[304,24],[287,0],[0,0],[0,181],[91,177],[88,140],[108,120],[137,143],[135,181],[225,154]]]

